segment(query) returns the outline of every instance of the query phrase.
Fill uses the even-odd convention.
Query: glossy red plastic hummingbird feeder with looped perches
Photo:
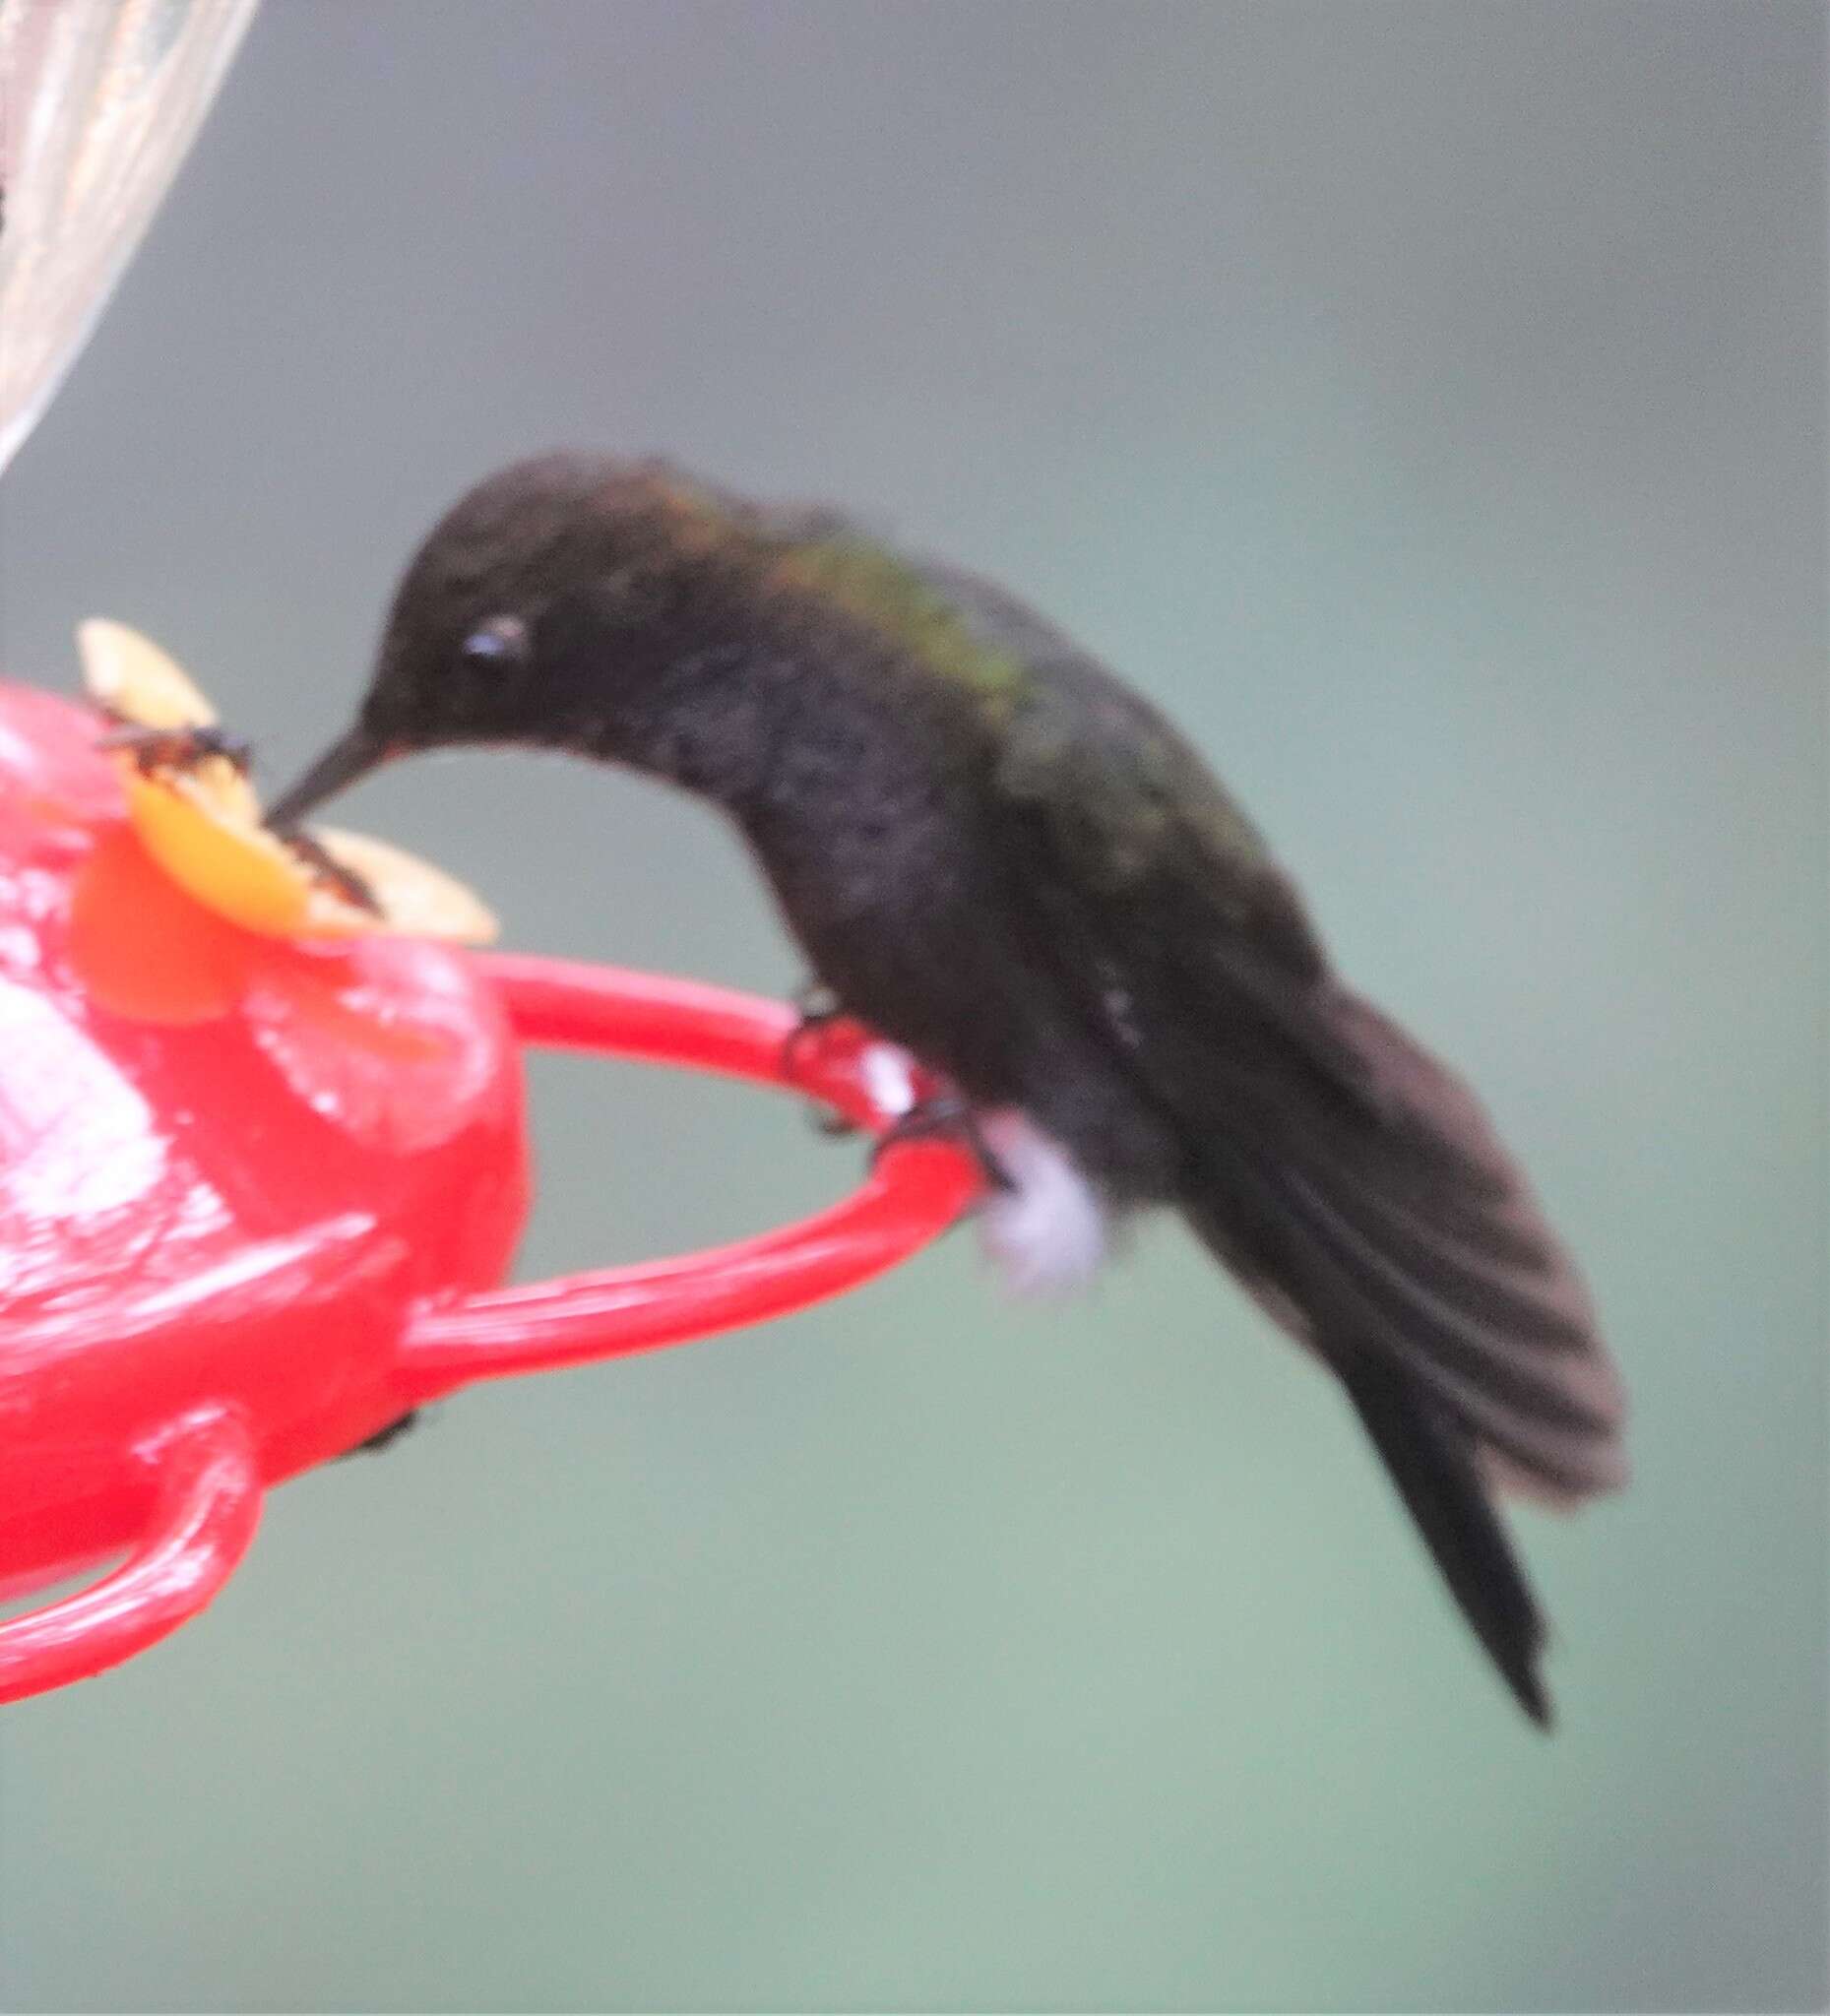
[[[971,1204],[969,1155],[893,1141],[800,1224],[502,1286],[524,1044],[792,1089],[877,1135],[919,1095],[907,1058],[679,980],[254,929],[240,857],[189,873],[216,901],[173,875],[195,806],[101,726],[0,685],[0,1597],[125,1558],[0,1623],[0,1699],[193,1617],[268,1486],[407,1409],[784,1314]]]

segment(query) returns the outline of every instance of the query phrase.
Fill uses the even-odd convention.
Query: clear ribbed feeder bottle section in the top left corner
[[[256,0],[0,0],[0,470],[95,329]]]

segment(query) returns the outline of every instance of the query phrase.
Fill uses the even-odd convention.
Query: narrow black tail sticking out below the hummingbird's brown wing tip
[[[1548,1730],[1550,1695],[1538,1677],[1544,1617],[1465,1439],[1405,1373],[1360,1363],[1340,1377],[1461,1615],[1520,1708]]]

